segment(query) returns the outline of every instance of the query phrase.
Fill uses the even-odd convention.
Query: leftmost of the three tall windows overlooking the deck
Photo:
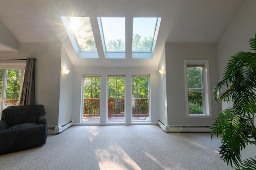
[[[84,75],[83,121],[100,121],[100,75]]]

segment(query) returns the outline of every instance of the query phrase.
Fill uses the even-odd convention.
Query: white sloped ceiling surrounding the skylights
[[[0,0],[0,20],[19,43],[59,42],[74,66],[157,66],[168,43],[216,43],[244,0]],[[152,59],[78,59],[60,16],[161,17]],[[92,23],[93,24],[93,23]],[[126,25],[126,34],[132,25]],[[94,35],[100,37],[99,35]],[[1,43],[1,42],[0,42]],[[8,51],[1,47],[0,51]],[[10,51],[10,50],[9,50]]]

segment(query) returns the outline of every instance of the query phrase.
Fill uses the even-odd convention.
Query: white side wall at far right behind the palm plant
[[[228,25],[217,43],[219,78],[222,78],[228,59],[240,51],[250,51],[248,40],[254,38],[256,32],[256,0],[245,0],[233,20]],[[222,104],[223,109],[229,107]],[[242,158],[255,156],[255,145],[242,150]]]

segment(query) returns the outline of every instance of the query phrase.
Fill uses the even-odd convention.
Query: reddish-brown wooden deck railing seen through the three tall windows
[[[132,99],[132,115],[148,116],[148,98]],[[84,99],[84,116],[100,116],[100,98]],[[108,98],[108,117],[124,116],[124,98]]]

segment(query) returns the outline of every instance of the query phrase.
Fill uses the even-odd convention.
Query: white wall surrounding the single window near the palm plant
[[[217,49],[215,43],[166,43],[166,95],[168,125],[207,125],[220,113],[220,104],[213,100],[212,91],[218,82]],[[212,117],[187,118],[184,60],[208,60]]]

